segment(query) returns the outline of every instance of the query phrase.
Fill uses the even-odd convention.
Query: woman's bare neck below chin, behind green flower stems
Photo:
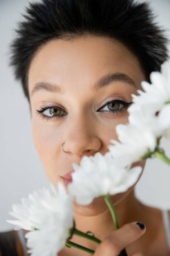
[[[105,201],[103,199],[98,200],[100,201],[93,201],[93,203],[87,207],[80,207],[79,205],[79,210],[75,207],[75,228],[83,232],[91,231],[97,238],[103,240],[105,236],[115,230],[115,227],[112,215]],[[120,226],[138,220],[140,207],[141,203],[134,196],[134,190],[130,191],[122,201],[115,205]],[[79,236],[73,236],[71,241],[75,243],[85,243],[84,246],[87,245],[88,247],[89,245],[95,248],[95,245],[92,245],[91,241],[85,239],[86,241],[83,242],[83,239],[84,238],[80,238]]]

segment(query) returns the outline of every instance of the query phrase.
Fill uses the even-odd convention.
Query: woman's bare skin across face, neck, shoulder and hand
[[[134,80],[135,86],[117,81],[97,91],[93,90],[100,77],[116,72],[128,75]],[[140,82],[143,80],[146,80],[146,77],[137,57],[118,40],[86,35],[69,41],[55,39],[41,46],[30,64],[28,90],[33,140],[50,182],[54,185],[57,185],[58,181],[63,182],[62,176],[73,168],[73,163],[79,164],[83,156],[93,156],[96,152],[105,154],[108,151],[110,139],[118,139],[116,125],[128,123],[128,112],[127,108],[124,108],[112,113],[108,105],[104,104],[108,100],[131,102],[131,94],[137,94],[136,90],[141,89]],[[34,86],[40,82],[57,84],[61,91],[39,90],[32,95]],[[45,104],[49,107],[59,106],[67,115],[62,118],[42,119],[37,110]],[[103,112],[97,111],[101,106],[104,106],[100,110]],[[121,107],[122,105],[119,105],[118,108]],[[48,110],[46,115],[49,115]],[[60,149],[62,143],[65,143],[63,149],[67,153]],[[134,165],[144,168],[145,162]],[[125,246],[128,255],[140,251],[143,255],[157,256],[161,255],[160,248],[158,250],[160,243],[164,249],[161,251],[164,252],[162,255],[168,255],[159,210],[140,203],[134,196],[134,187],[126,193],[112,197],[112,201],[120,226],[142,221],[146,224],[148,232],[144,234],[146,228],[140,230],[136,224],[126,224],[125,228],[120,228],[119,233],[116,233],[118,231],[114,231],[105,202],[103,199],[95,199],[86,206],[74,204],[75,222],[77,229],[84,232],[91,230],[103,243],[97,246],[79,236],[73,236],[71,241],[96,250],[95,256],[103,253],[105,256],[118,255]],[[157,226],[150,225],[157,220]],[[126,233],[127,236],[123,239],[122,234]],[[153,236],[158,233],[159,237]],[[142,234],[144,236],[138,239]],[[158,240],[159,245],[155,243]],[[147,245],[150,247],[146,254]],[[87,256],[87,253],[65,247],[59,253],[59,256],[63,255]]]

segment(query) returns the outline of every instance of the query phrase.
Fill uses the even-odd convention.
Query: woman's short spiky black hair
[[[136,57],[147,81],[167,60],[167,38],[147,3],[134,0],[42,0],[30,3],[11,43],[10,64],[28,94],[28,69],[42,44],[91,34],[122,42]]]

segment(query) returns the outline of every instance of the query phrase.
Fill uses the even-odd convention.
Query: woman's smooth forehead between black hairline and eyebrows
[[[87,86],[109,72],[126,73],[136,84],[144,79],[137,57],[118,40],[99,36],[54,39],[34,55],[28,72],[28,89],[31,92],[39,82]]]

